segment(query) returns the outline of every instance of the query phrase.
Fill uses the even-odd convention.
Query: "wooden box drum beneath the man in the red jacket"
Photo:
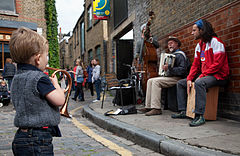
[[[217,119],[218,92],[219,92],[218,86],[208,88],[206,107],[205,107],[205,113],[204,113],[204,118],[206,120]],[[196,93],[195,93],[194,83],[192,83],[192,88],[191,88],[190,94],[188,95],[187,111],[186,111],[186,115],[190,118],[195,117],[195,113],[194,113],[195,94]]]

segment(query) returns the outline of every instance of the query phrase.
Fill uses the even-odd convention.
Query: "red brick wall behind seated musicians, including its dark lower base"
[[[195,1],[196,2],[196,1]],[[225,1],[224,1],[225,2]],[[213,12],[204,14],[186,25],[179,28],[169,28],[166,32],[173,30],[170,33],[163,33],[159,37],[159,42],[166,48],[165,41],[168,36],[176,36],[182,42],[181,49],[187,53],[191,61],[193,61],[194,49],[197,41],[194,41],[191,35],[193,23],[200,18],[205,18],[213,25],[217,35],[226,44],[226,52],[228,55],[230,66],[230,81],[229,84],[222,88],[219,96],[218,115],[236,119],[240,121],[240,2],[235,1],[225,5]],[[153,27],[154,30],[154,27]]]

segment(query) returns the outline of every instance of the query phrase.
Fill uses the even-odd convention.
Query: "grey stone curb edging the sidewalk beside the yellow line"
[[[164,135],[149,132],[138,127],[118,121],[114,118],[101,115],[93,111],[89,105],[83,107],[83,114],[86,118],[98,126],[124,137],[134,143],[151,149],[155,152],[171,156],[234,156],[221,151],[199,148],[181,143]]]

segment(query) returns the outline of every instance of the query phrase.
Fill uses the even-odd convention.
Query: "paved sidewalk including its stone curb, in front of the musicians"
[[[239,122],[218,118],[200,127],[189,127],[189,119],[172,119],[173,112],[168,110],[157,116],[104,116],[119,108],[113,106],[112,99],[107,94],[103,109],[101,102],[86,105],[84,115],[100,127],[164,155],[240,155]]]

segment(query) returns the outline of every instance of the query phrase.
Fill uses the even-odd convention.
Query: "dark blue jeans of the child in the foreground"
[[[12,142],[13,154],[17,156],[53,156],[52,135],[48,130],[18,129]]]

